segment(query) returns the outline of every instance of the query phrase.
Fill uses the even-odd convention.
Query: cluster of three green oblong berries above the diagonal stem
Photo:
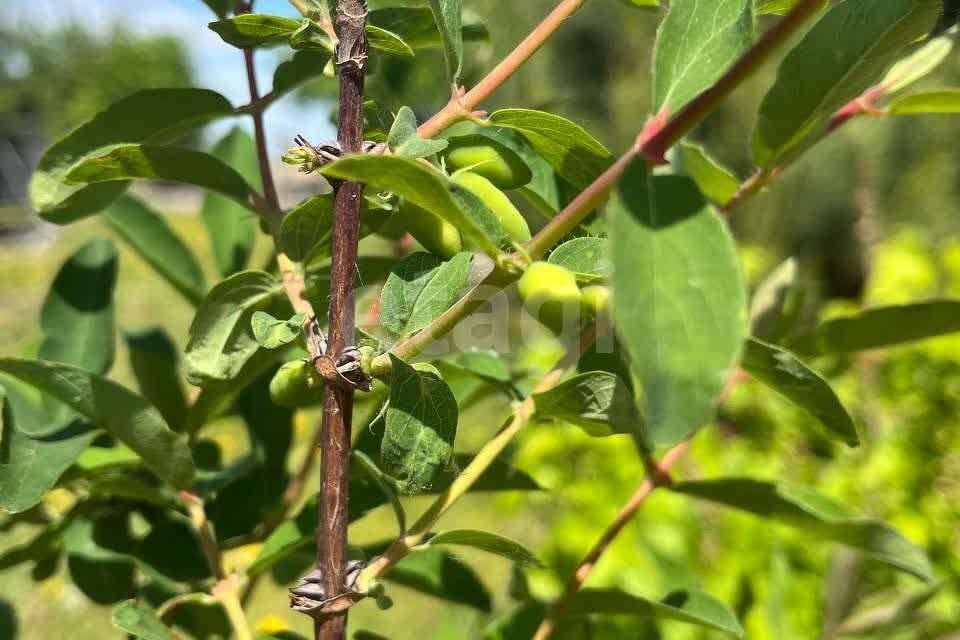
[[[447,169],[453,171],[453,182],[487,205],[511,242],[530,239],[527,221],[503,193],[522,187],[533,177],[520,156],[496,140],[468,135],[452,138],[443,158]],[[455,225],[412,202],[401,202],[392,222],[445,260],[463,251],[463,238]]]

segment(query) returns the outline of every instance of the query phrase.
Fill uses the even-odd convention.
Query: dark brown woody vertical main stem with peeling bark
[[[365,0],[340,0],[334,23],[339,44],[336,64],[340,76],[338,140],[344,154],[360,153],[363,142],[363,81],[367,40]],[[336,186],[333,215],[333,264],[330,289],[328,349],[339,354],[354,340],[354,290],[357,243],[360,238],[362,186],[343,182]],[[353,392],[328,385],[323,396],[323,437],[317,567],[323,574],[327,597],[344,592],[347,564],[347,500],[350,469],[350,423]],[[343,640],[346,612],[318,620],[317,640]]]

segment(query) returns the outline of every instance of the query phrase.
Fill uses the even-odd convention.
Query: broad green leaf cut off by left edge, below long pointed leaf
[[[0,509],[20,513],[43,499],[96,433],[74,422],[52,435],[31,437],[18,428],[12,404],[0,387]]]

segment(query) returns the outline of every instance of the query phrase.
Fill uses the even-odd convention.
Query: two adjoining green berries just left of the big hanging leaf
[[[556,334],[571,329],[582,316],[599,318],[610,308],[610,289],[603,285],[580,288],[566,267],[534,262],[517,283],[524,307]]]

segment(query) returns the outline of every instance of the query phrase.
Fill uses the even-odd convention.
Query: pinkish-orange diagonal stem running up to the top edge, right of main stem
[[[517,72],[517,69],[533,57],[533,54],[566,22],[567,18],[583,6],[584,2],[585,0],[563,0],[483,80],[466,94],[454,95],[447,106],[420,125],[417,132],[424,138],[432,138],[454,122],[472,113],[481,102],[489,98]]]

